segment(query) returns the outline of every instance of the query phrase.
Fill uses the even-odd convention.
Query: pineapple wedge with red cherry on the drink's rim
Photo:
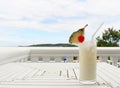
[[[84,41],[84,29],[88,26],[88,24],[86,24],[83,28],[78,29],[77,31],[73,32],[72,35],[69,38],[69,43],[74,43],[74,44],[79,44],[82,43]]]

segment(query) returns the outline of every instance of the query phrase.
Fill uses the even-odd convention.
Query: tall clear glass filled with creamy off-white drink
[[[80,82],[83,84],[94,84],[96,82],[96,43],[86,41],[80,43]]]

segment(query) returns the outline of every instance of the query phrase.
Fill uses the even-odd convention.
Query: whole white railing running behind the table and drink
[[[112,63],[117,65],[120,47],[98,47],[97,55],[101,61],[107,61],[107,57],[110,56]],[[68,57],[68,61],[73,61],[73,56],[79,56],[78,47],[0,47],[0,64],[20,60],[39,61],[41,57],[43,61],[49,61],[50,57],[60,61],[63,56]]]

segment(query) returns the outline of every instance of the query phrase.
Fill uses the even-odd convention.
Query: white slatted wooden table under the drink
[[[97,63],[94,85],[79,83],[78,63],[9,63],[0,66],[0,88],[120,88],[120,69]]]

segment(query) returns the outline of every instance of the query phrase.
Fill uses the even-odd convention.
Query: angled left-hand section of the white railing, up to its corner
[[[24,47],[0,47],[0,65],[26,59],[30,50]]]

